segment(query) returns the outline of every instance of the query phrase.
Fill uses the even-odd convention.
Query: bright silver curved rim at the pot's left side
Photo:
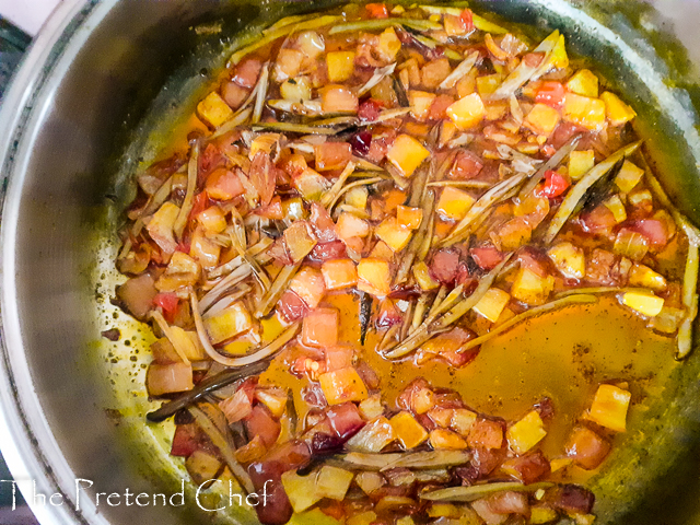
[[[18,310],[16,228],[28,152],[50,110],[54,90],[114,2],[60,2],[35,36],[0,108],[0,166],[2,187],[7,187],[0,189],[0,451],[36,518],[56,525],[108,522],[92,500],[75,500],[77,476],[55,440],[34,387]],[[62,503],[55,506],[34,494],[45,494],[47,500],[60,494]]]

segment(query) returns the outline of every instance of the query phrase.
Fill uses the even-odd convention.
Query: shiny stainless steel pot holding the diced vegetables
[[[186,508],[127,505],[126,489],[170,495],[183,472],[163,450],[165,432],[143,420],[149,402],[141,365],[148,358],[137,350],[148,335],[108,303],[118,279],[115,225],[139,158],[152,156],[160,133],[191,109],[202,69],[221,66],[232,44],[192,27],[220,21],[223,35],[235,35],[281,13],[330,3],[65,0],[32,46],[0,113],[8,180],[0,238],[0,447],[42,523],[212,517],[194,500]],[[642,135],[655,144],[649,154],[698,222],[700,137],[692,101],[700,92],[688,81],[686,50],[668,36],[674,26],[664,25],[670,16],[676,30],[686,28],[679,35],[700,63],[698,2],[660,1],[661,14],[629,1],[472,3],[541,30],[563,30],[570,46],[593,56],[633,98]],[[117,324],[121,341],[101,339],[102,329]],[[699,372],[696,351],[654,405],[646,435],[594,481],[600,523],[700,522]],[[82,488],[93,486],[77,492],[77,479],[85,480]],[[104,495],[97,504],[96,492],[117,492],[120,504]],[[60,494],[52,500],[60,505],[51,494]],[[228,513],[230,521],[253,520],[249,512]]]

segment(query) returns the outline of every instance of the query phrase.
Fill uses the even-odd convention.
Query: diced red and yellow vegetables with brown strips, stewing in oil
[[[350,5],[237,50],[187,141],[137,174],[117,261],[118,301],[160,337],[149,419],[175,417],[192,480],[270,480],[266,524],[592,523],[594,494],[557,476],[605,462],[625,380],[547,457],[556,399],[505,421],[425,378],[389,395],[370,363],[469,366],[606,296],[689,353],[700,235],[605,85],[559,32],[469,9]]]

